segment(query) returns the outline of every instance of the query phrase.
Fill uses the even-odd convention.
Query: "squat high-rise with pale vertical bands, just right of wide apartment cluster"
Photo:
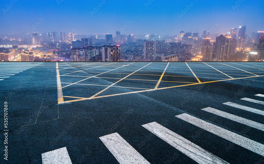
[[[103,46],[102,61],[103,62],[119,62],[121,60],[120,46]]]

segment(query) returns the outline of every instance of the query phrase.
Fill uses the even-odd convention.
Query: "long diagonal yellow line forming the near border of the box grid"
[[[264,75],[263,75],[263,76],[264,76]],[[95,99],[95,98],[103,98],[103,97],[111,97],[111,96],[127,95],[127,94],[132,94],[132,93],[149,92],[149,91],[163,90],[163,89],[176,88],[176,87],[183,87],[183,86],[199,85],[199,84],[205,84],[205,83],[213,83],[213,82],[229,81],[229,80],[236,80],[236,79],[252,78],[252,77],[262,77],[262,76],[251,76],[251,77],[242,77],[242,78],[234,78],[234,79],[225,79],[225,80],[218,80],[218,81],[209,81],[209,82],[202,82],[202,83],[194,83],[194,84],[180,85],[180,86],[164,87],[164,88],[151,89],[151,90],[144,90],[144,91],[135,91],[135,92],[119,93],[119,94],[114,94],[114,95],[106,95],[106,96],[90,97],[90,98],[88,98],[88,99],[80,99],[80,100],[73,100],[73,101],[65,101],[65,102],[63,102],[63,103],[76,102],[76,101],[83,101],[83,100],[90,100],[90,99]]]

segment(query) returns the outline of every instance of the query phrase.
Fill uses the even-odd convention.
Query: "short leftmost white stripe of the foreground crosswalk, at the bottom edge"
[[[43,164],[72,164],[66,147],[43,153],[41,156]]]

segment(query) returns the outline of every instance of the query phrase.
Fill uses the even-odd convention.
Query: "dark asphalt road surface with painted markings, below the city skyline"
[[[2,62],[0,84],[3,163],[264,163],[263,62]]]

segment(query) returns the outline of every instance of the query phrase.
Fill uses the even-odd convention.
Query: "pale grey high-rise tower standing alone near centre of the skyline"
[[[144,41],[144,59],[155,60],[156,44],[154,41]]]

